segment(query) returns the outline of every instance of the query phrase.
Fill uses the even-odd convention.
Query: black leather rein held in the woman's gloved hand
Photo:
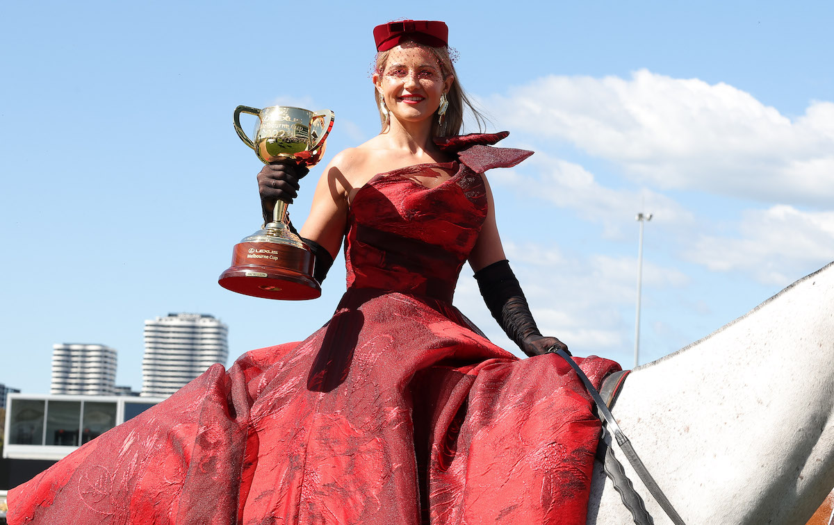
[[[629,439],[625,437],[625,434],[622,432],[622,430],[620,430],[620,425],[617,424],[614,415],[611,414],[611,411],[608,409],[608,406],[605,404],[605,401],[603,401],[602,397],[600,396],[600,393],[598,393],[596,391],[596,388],[594,388],[594,385],[590,383],[590,379],[588,379],[588,376],[586,376],[585,373],[582,372],[579,366],[576,365],[574,360],[571,359],[570,356],[567,353],[565,353],[564,350],[555,349],[554,347],[550,349],[550,352],[557,354],[562,359],[565,359],[565,361],[570,365],[570,368],[574,369],[576,375],[585,385],[585,389],[590,394],[590,397],[594,399],[594,403],[596,403],[596,408],[602,415],[602,418],[600,419],[603,419],[603,423],[607,425],[608,432],[610,434],[613,434],[614,438],[617,441],[617,444],[620,445],[620,450],[622,450],[623,453],[625,453],[625,458],[627,458],[629,463],[631,463],[631,467],[634,468],[635,472],[640,477],[643,484],[646,485],[646,488],[649,489],[649,493],[651,493],[651,496],[655,498],[658,504],[660,504],[663,511],[666,512],[666,515],[669,516],[669,519],[671,519],[671,521],[675,523],[675,525],[686,525],[681,519],[681,516],[675,510],[675,507],[672,507],[671,502],[669,502],[669,499],[666,498],[666,494],[664,494],[661,488],[657,485],[655,478],[651,477],[651,474],[646,469],[646,465],[644,465],[640,457],[637,456],[634,447],[631,446],[631,441],[629,441]],[[620,378],[620,381],[621,380],[622,378]],[[629,510],[631,510],[631,515],[635,518],[635,522],[638,523],[638,525],[640,523],[638,522],[638,513],[640,513],[641,516],[643,516],[644,518],[648,518],[647,522],[651,522],[651,517],[649,516],[649,513],[646,512],[646,507],[643,506],[643,502],[640,499],[640,496],[634,492],[634,488],[631,485],[631,480],[625,477],[625,471],[623,471],[622,465],[620,465],[620,463],[614,458],[614,449],[610,448],[610,444],[605,442],[605,440],[602,440],[602,443],[605,443],[605,448],[607,448],[606,451],[602,452],[602,454],[604,454],[605,456],[605,472],[609,473],[610,468],[613,471],[613,473],[609,473],[609,476],[612,478],[612,480],[615,478],[615,476],[617,476],[625,478],[625,482],[627,483],[626,488],[618,487],[615,483],[615,489],[618,493],[620,493],[620,497],[623,499],[625,507],[628,507]],[[629,492],[634,493],[633,496],[627,494]]]

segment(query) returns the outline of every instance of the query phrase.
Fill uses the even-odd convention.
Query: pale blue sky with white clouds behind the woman
[[[232,356],[325,323],[342,258],[315,301],[217,284],[261,221],[232,113],[334,110],[324,163],[364,142],[371,30],[400,18],[445,20],[489,130],[536,151],[490,183],[540,328],[576,355],[633,362],[641,208],[642,363],[834,259],[830,2],[314,5],[3,7],[0,383],[48,392],[53,343],[103,343],[138,389],[143,320],[169,312],[222,319]],[[470,275],[455,304],[510,348]]]

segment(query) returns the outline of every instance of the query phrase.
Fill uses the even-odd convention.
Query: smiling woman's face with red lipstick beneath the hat
[[[454,80],[451,75],[444,79],[434,52],[409,44],[392,48],[382,71],[374,72],[374,84],[388,111],[406,122],[433,117],[440,95]]]

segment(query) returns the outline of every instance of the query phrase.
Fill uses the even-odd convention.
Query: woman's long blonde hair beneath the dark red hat
[[[460,135],[464,127],[464,112],[467,107],[469,107],[470,112],[472,112],[472,115],[475,117],[475,122],[478,124],[478,130],[483,131],[486,119],[477,109],[475,109],[475,106],[470,101],[470,98],[466,95],[464,88],[460,86],[458,73],[455,72],[455,64],[452,63],[449,56],[449,48],[430,47],[413,41],[400,42],[399,45],[402,47],[422,47],[424,49],[428,49],[430,52],[435,54],[435,57],[437,57],[437,62],[440,63],[440,71],[443,74],[443,79],[445,80],[450,75],[455,77],[454,82],[452,82],[452,86],[449,88],[449,92],[446,93],[446,100],[449,101],[449,107],[446,108],[446,112],[443,117],[443,124],[438,123],[438,118],[432,119],[432,137],[452,137]],[[385,63],[388,61],[388,55],[390,52],[391,50],[389,49],[388,51],[380,51],[376,54],[375,70],[380,75],[385,68]],[[375,87],[374,101],[376,102],[376,108],[379,111],[379,122],[381,123],[382,131],[384,132],[385,129],[388,128],[388,115],[383,110],[384,102],[382,97],[378,96],[378,92]]]

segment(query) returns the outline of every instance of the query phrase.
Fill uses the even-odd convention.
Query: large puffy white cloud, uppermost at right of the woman
[[[557,138],[659,188],[771,203],[834,199],[834,103],[791,121],[725,83],[644,70],[620,77],[550,76],[483,102],[502,126]]]

